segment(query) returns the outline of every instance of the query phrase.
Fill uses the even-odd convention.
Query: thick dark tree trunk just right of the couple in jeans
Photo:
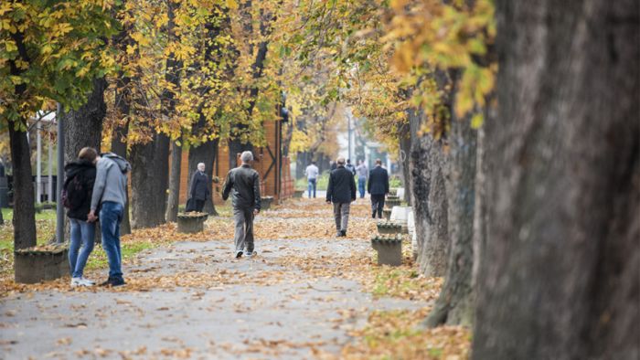
[[[165,223],[169,138],[154,133],[149,143],[131,147],[132,228],[154,228]]]

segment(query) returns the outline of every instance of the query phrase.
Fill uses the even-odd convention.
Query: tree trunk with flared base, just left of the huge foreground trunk
[[[475,148],[471,119],[452,119],[450,133],[448,231],[450,238],[446,276],[427,326],[443,323],[471,325],[475,310],[474,268]]]

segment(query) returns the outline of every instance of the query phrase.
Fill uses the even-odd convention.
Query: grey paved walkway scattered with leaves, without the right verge
[[[317,206],[321,200],[298,200],[257,221],[266,227],[273,217],[299,228],[313,210],[300,205],[304,201],[320,215],[306,221],[330,228],[331,212]],[[364,215],[367,204],[359,206]],[[365,221],[371,220],[351,219]],[[366,324],[368,312],[423,305],[374,300],[355,277],[342,276],[350,261],[373,254],[365,237],[256,236],[259,255],[252,259],[233,259],[232,234],[221,234],[227,239],[176,242],[139,254],[125,264],[129,284],[117,290],[5,297],[0,358],[331,357],[352,341],[351,330]]]

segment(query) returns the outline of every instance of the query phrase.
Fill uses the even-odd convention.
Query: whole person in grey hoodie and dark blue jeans
[[[123,222],[127,202],[127,174],[131,165],[113,153],[101,154],[96,160],[96,181],[91,195],[88,221],[94,222],[100,206],[102,249],[109,261],[109,279],[101,286],[124,285],[123,253],[120,248],[120,224]]]

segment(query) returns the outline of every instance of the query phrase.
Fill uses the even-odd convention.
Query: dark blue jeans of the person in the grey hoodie
[[[123,279],[123,253],[120,250],[120,223],[123,221],[122,204],[112,201],[102,203],[100,225],[102,249],[109,260],[109,277]]]

